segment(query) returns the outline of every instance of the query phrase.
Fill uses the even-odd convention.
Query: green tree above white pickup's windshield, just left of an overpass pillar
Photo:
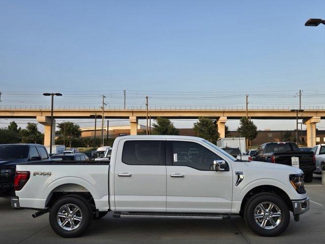
[[[200,117],[197,123],[194,123],[193,130],[198,137],[202,137],[212,143],[216,143],[220,134],[213,119],[207,117]]]

